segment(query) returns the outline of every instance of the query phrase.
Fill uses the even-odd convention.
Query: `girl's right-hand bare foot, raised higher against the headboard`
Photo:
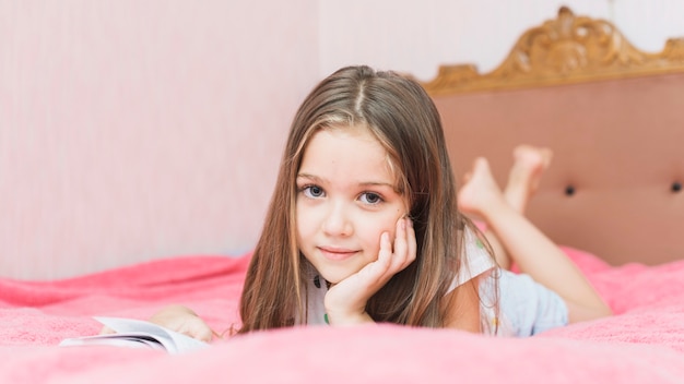
[[[504,191],[506,201],[516,211],[523,213],[528,201],[539,188],[543,171],[551,164],[553,152],[532,145],[519,145],[514,149],[514,165],[508,173]]]

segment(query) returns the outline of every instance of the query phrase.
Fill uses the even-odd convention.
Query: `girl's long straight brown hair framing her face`
[[[444,325],[441,299],[460,267],[470,220],[457,209],[456,183],[439,113],[416,82],[361,67],[338,70],[299,107],[287,137],[275,191],[255,249],[240,300],[239,333],[306,320],[306,271],[296,243],[296,175],[309,139],[340,123],[365,125],[388,153],[410,202],[417,257],[367,303],[376,322]],[[474,230],[474,228],[473,228]],[[476,230],[475,230],[476,231]],[[305,322],[305,321],[299,321]]]

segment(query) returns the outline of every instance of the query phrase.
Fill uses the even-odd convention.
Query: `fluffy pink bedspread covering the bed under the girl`
[[[0,279],[0,383],[684,383],[684,261],[610,267],[568,254],[616,315],[524,339],[392,325],[252,334],[180,356],[71,347],[93,315],[186,303],[237,322],[249,255],[188,256],[59,281]]]

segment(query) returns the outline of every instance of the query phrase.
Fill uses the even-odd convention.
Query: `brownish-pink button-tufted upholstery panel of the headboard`
[[[433,98],[457,177],[486,156],[503,185],[516,145],[554,151],[528,216],[555,241],[684,259],[684,72]]]

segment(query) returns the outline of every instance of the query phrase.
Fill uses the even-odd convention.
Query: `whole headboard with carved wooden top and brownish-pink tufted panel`
[[[547,146],[528,216],[552,239],[613,265],[684,259],[684,39],[647,53],[564,7],[494,71],[443,65],[423,86],[457,177],[485,156],[503,185],[516,145]]]

